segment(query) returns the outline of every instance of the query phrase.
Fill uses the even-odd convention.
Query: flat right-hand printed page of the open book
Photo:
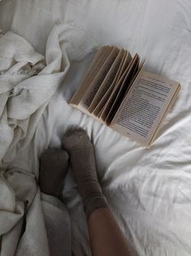
[[[149,146],[179,86],[178,82],[141,71],[110,127]]]

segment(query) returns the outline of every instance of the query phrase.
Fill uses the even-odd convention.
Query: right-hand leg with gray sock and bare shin
[[[84,130],[63,136],[63,148],[70,155],[72,171],[82,196],[88,218],[89,236],[94,256],[128,256],[128,242],[107,205],[98,182],[93,144]]]

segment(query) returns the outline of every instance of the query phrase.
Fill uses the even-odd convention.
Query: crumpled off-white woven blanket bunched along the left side
[[[43,214],[43,210],[57,215],[58,209],[62,207],[47,198],[41,202],[37,177],[33,173],[16,168],[9,170],[8,166],[14,161],[16,151],[26,147],[33,138],[42,113],[67,74],[70,61],[81,60],[92,50],[95,43],[89,40],[92,39],[70,24],[56,25],[47,39],[44,57],[15,33],[0,35],[2,256],[37,256],[50,253],[44,222],[47,214]],[[65,241],[68,244],[70,224],[67,213],[62,211],[62,216],[66,220],[66,230],[61,232],[65,232]],[[48,219],[50,217],[48,216]],[[66,255],[71,254],[71,251],[68,253],[68,249],[71,249],[69,245],[67,253],[65,251]]]

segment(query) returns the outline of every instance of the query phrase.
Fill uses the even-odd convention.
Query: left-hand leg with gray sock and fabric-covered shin
[[[72,255],[70,216],[58,198],[67,169],[63,149],[48,149],[41,155],[39,185],[50,256]]]

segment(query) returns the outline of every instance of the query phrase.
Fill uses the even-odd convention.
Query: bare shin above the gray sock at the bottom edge
[[[111,210],[94,210],[88,219],[89,237],[94,256],[130,256],[124,234],[119,229]]]

